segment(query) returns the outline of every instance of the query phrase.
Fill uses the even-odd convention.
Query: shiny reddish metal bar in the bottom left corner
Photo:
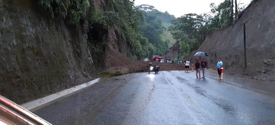
[[[0,95],[0,121],[9,125],[51,125],[2,95]]]

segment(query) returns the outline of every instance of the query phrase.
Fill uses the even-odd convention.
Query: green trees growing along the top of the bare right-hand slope
[[[235,2],[235,4],[233,4]],[[197,50],[205,38],[214,30],[235,24],[245,6],[237,0],[224,0],[219,5],[211,3],[209,13],[188,13],[172,20],[169,31],[180,44],[180,58]],[[234,12],[235,10],[235,12]]]

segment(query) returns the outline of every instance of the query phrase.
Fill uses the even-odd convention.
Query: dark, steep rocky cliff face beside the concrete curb
[[[104,6],[95,1],[98,9]],[[131,55],[116,29],[108,34],[104,42],[112,39],[115,46],[108,49]],[[95,66],[86,36],[80,24],[51,18],[35,1],[0,0],[0,94],[23,103],[98,77],[96,69],[107,67],[108,59],[99,57],[105,65]]]

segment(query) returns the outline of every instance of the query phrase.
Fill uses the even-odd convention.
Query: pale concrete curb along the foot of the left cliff
[[[72,94],[74,94],[74,93],[76,93],[80,90],[83,90],[83,89],[91,86],[94,83],[97,83],[99,81],[99,79],[100,78],[94,79],[92,81],[89,81],[87,83],[72,87],[70,89],[65,89],[61,92],[57,92],[57,93],[54,93],[52,95],[49,95],[49,96],[46,96],[46,97],[43,97],[43,98],[40,98],[40,99],[37,99],[37,100],[34,100],[34,101],[30,101],[30,102],[21,104],[20,106],[27,109],[27,110],[29,110],[29,111],[31,111],[31,112],[34,112],[37,109],[40,109],[44,106],[52,104],[55,101],[61,100],[62,98],[68,97],[68,96],[70,96],[70,95],[72,95]]]

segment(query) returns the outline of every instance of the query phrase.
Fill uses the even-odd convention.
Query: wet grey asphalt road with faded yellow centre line
[[[194,72],[134,73],[34,113],[52,124],[275,124],[274,83]]]

